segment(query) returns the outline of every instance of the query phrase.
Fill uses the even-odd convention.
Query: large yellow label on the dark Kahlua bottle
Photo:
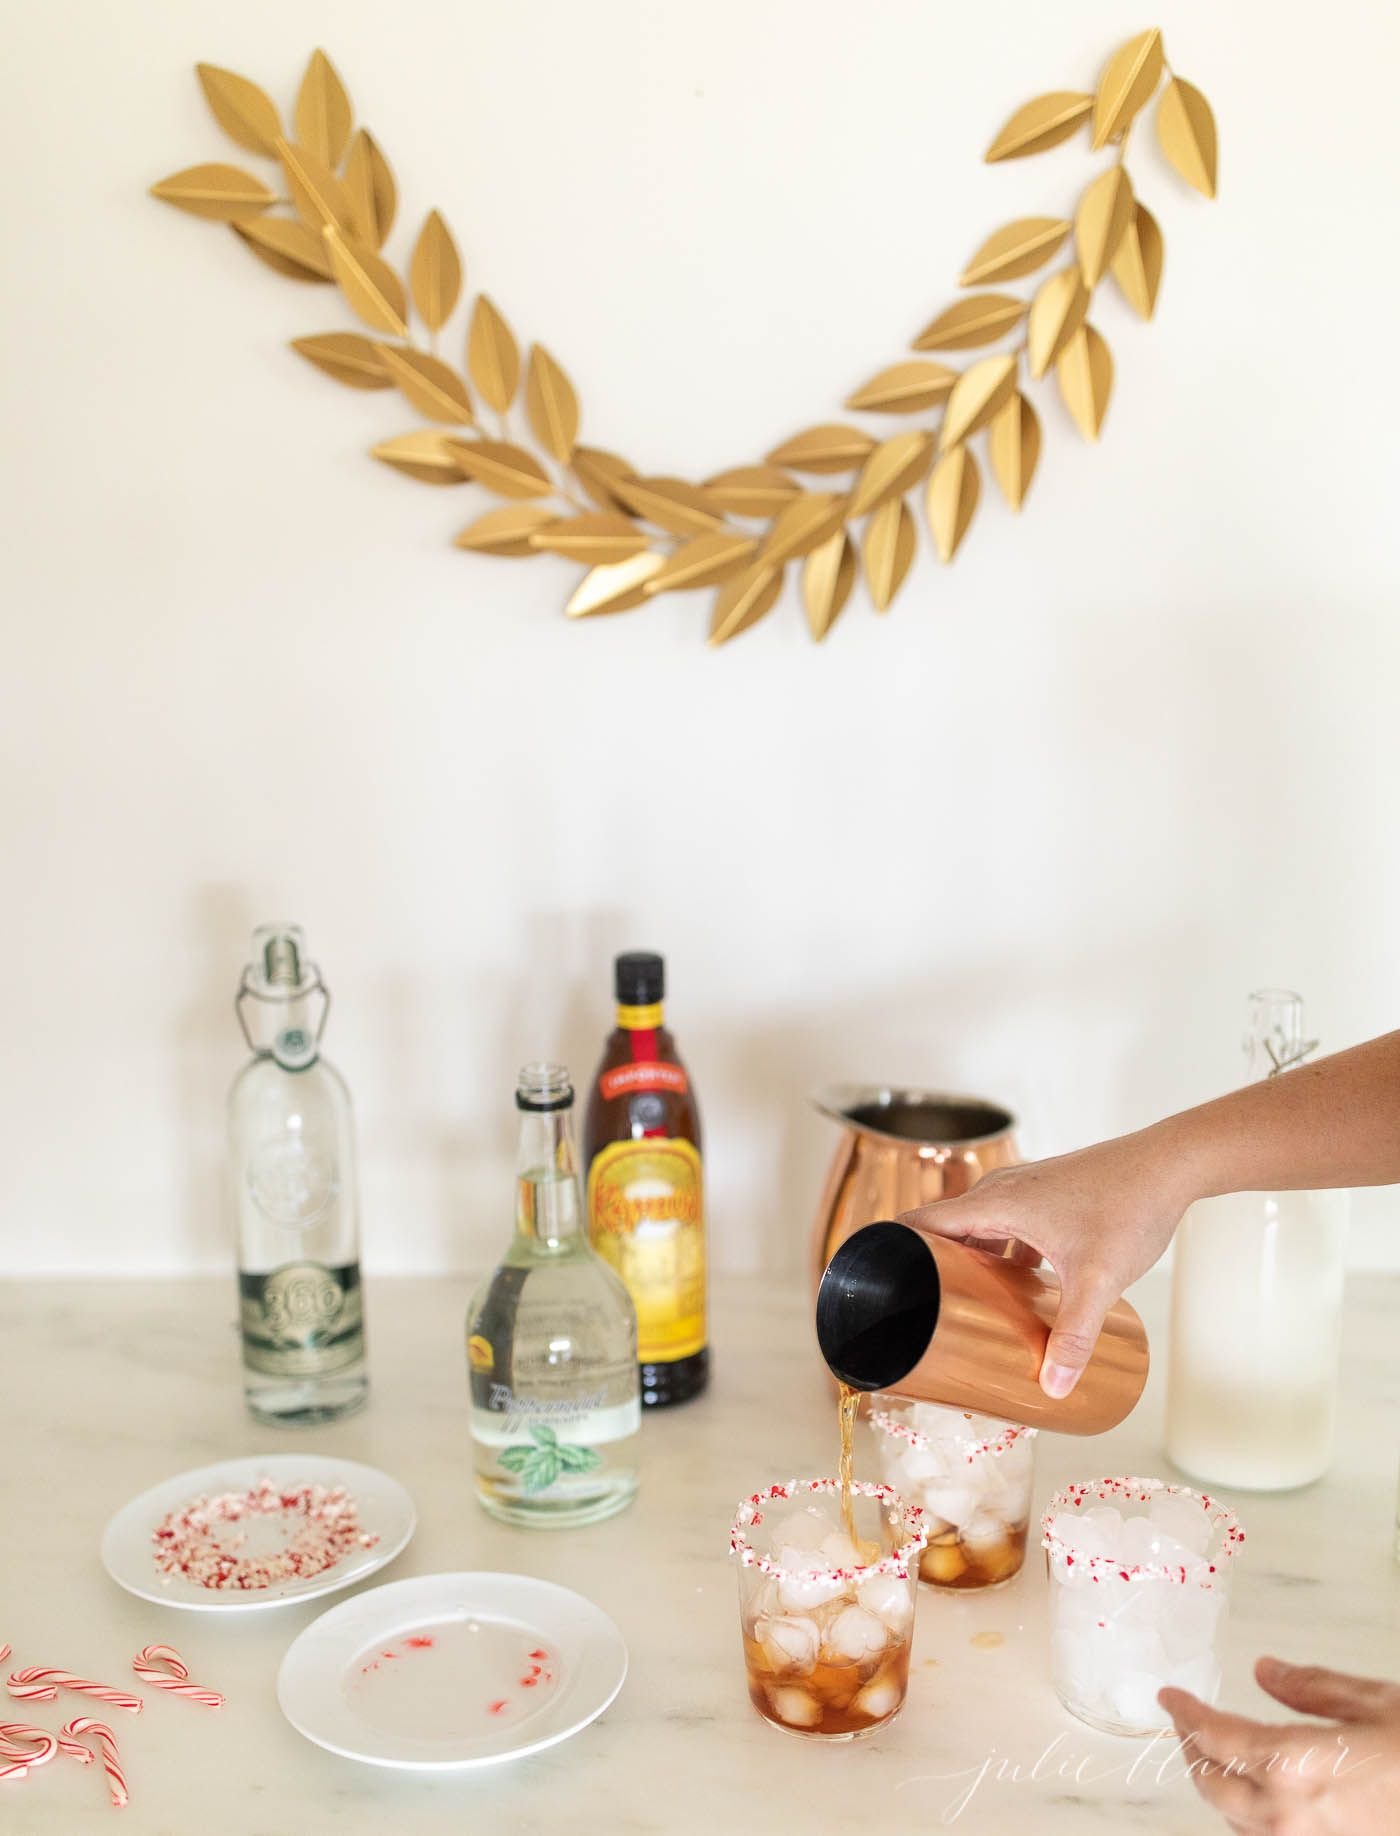
[[[589,1168],[589,1236],[637,1307],[637,1357],[705,1348],[705,1190],[692,1142],[609,1142]]]

